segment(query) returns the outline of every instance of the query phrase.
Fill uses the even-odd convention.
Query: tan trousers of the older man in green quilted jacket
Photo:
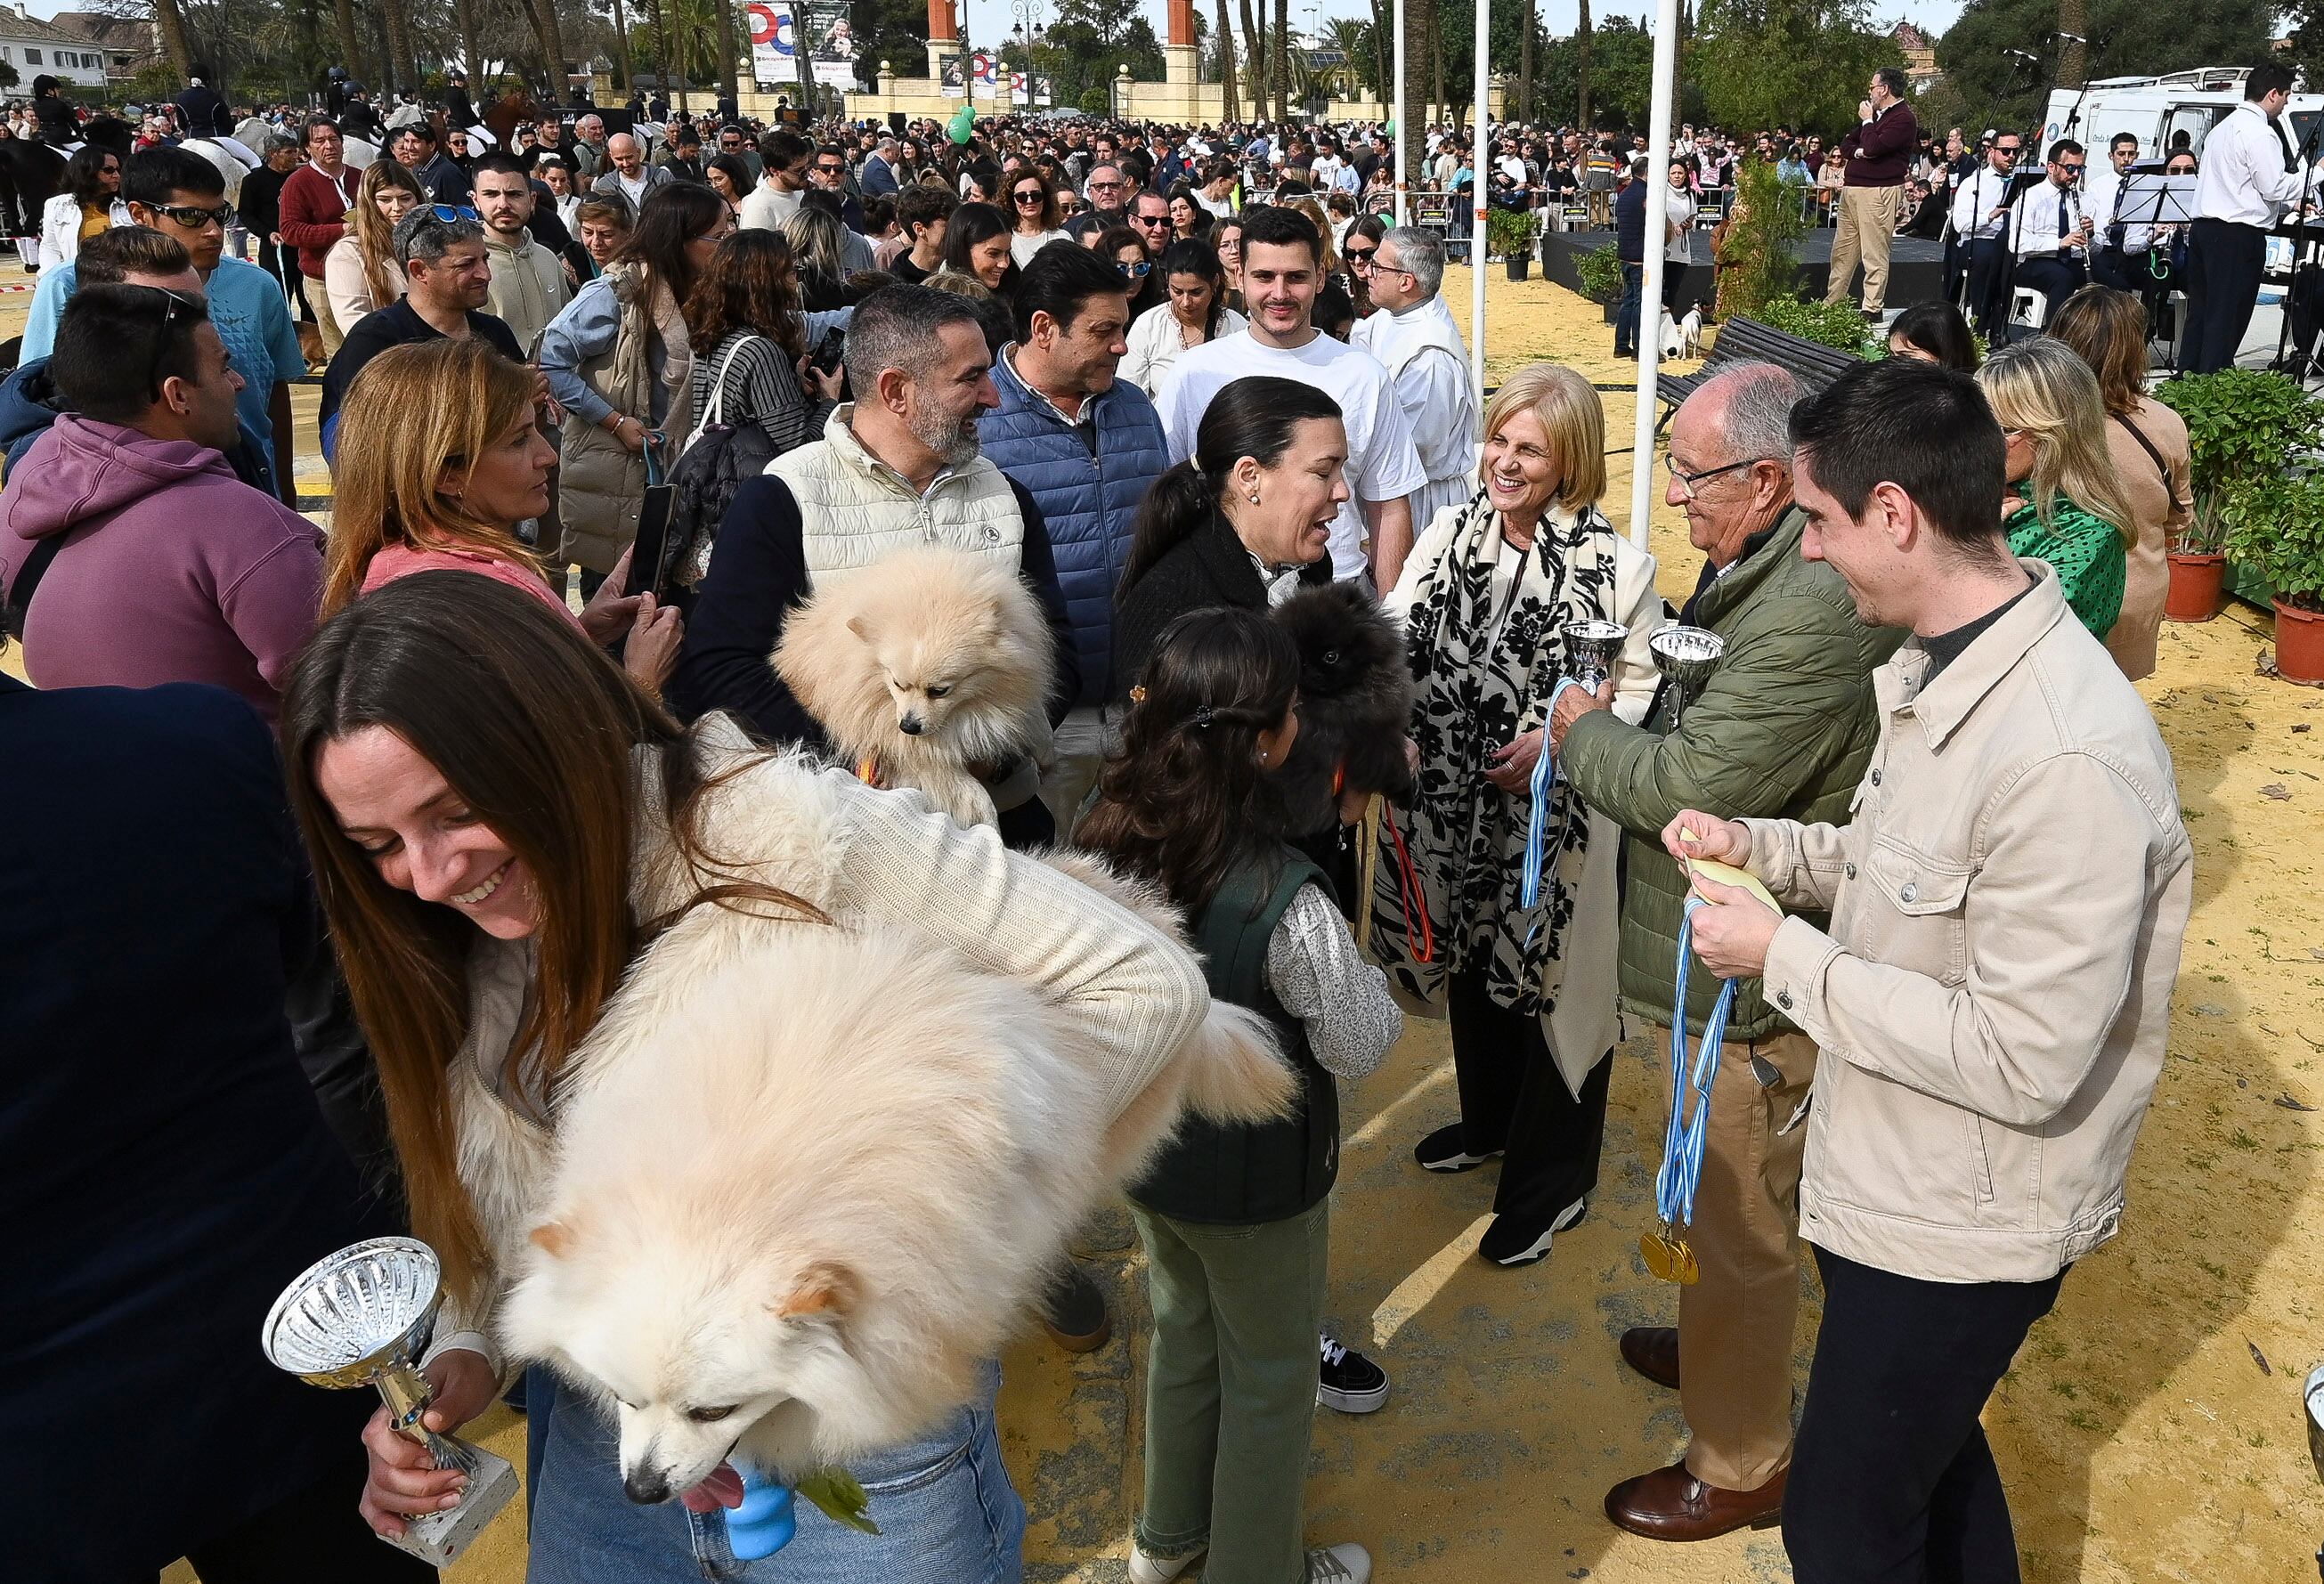
[[[1669,1029],[1655,1034],[1666,1052]],[[1780,1082],[1759,1082],[1755,1054]],[[1710,1085],[1703,1180],[1687,1233],[1701,1280],[1678,1289],[1678,1405],[1694,1433],[1687,1473],[1722,1491],[1757,1491],[1792,1461],[1799,1164],[1808,1124],[1783,1129],[1813,1080],[1815,1043],[1778,1034],[1750,1047],[1727,1045]],[[1669,1108],[1669,1059],[1662,1099]]]

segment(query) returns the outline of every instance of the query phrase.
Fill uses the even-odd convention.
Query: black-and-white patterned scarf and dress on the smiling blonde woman
[[[1446,973],[1485,973],[1494,1003],[1545,1013],[1564,985],[1564,931],[1573,917],[1590,820],[1559,780],[1550,787],[1545,859],[1534,908],[1525,908],[1525,829],[1532,794],[1508,794],[1485,780],[1497,748],[1538,729],[1550,690],[1566,674],[1566,622],[1613,620],[1613,527],[1594,506],[1578,516],[1543,513],[1518,588],[1504,592],[1508,615],[1494,632],[1494,562],[1499,513],[1483,490],[1422,571],[1406,618],[1406,643],[1420,701],[1413,741],[1420,785],[1397,829],[1411,852],[1434,924],[1434,962],[1418,959],[1418,922],[1408,929],[1397,892],[1399,866],[1380,855],[1373,899],[1376,952],[1411,994],[1439,999]]]

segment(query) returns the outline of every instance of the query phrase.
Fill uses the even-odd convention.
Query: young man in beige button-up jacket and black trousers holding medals
[[[2001,430],[1889,360],[1792,411],[1801,555],[1913,639],[1845,827],[1685,811],[1694,950],[1762,975],[1822,1059],[1799,1191],[1824,1277],[1783,1538],[1799,1584],[2017,1579],[1978,1412],[2122,1222],[2164,1061],[2192,859],[2171,757],[2057,574],[1996,532]]]

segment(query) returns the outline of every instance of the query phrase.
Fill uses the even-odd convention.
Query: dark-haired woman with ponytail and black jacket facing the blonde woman
[[[1348,430],[1313,386],[1253,374],[1215,397],[1195,455],[1155,478],[1113,595],[1113,697],[1188,611],[1267,611],[1329,583],[1329,530],[1348,499]]]

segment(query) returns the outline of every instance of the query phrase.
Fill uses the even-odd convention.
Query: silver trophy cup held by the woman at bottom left
[[[404,1538],[388,1540],[444,1568],[516,1496],[516,1470],[483,1447],[421,1426],[435,1387],[416,1359],[439,1298],[435,1250],[414,1238],[370,1238],[307,1266],[274,1301],[258,1345],[309,1387],[379,1387],[395,1428],[428,1447],[437,1468],[467,1475],[458,1507],[407,1517]]]

